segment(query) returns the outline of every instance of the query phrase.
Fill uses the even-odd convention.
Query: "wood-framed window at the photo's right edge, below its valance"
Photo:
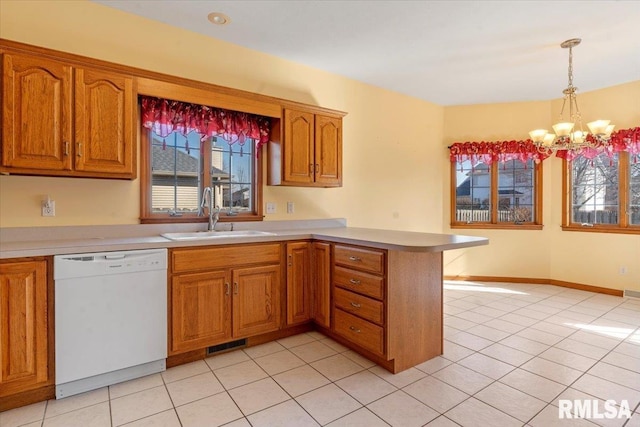
[[[640,233],[640,159],[625,151],[564,163],[563,229]]]

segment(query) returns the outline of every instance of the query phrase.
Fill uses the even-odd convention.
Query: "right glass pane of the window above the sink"
[[[211,183],[214,203],[227,212],[254,210],[254,170],[256,167],[254,143],[229,145],[222,138],[211,142]]]

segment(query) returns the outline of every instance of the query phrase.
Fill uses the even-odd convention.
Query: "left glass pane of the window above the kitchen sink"
[[[202,185],[200,136],[150,134],[152,212],[197,212]]]

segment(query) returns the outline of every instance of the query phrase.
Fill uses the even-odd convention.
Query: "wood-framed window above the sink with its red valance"
[[[268,139],[268,121],[220,110],[223,114],[217,125],[207,121],[200,126],[195,120],[201,121],[203,114],[210,114],[213,109],[148,99],[142,107],[140,138],[141,222],[206,221],[208,206],[201,207],[206,187],[213,190],[213,206],[220,208],[221,222],[262,220],[262,162],[257,128],[262,141]],[[158,111],[145,116],[145,107]],[[175,118],[160,123],[158,118],[170,115],[167,109],[171,108]],[[193,115],[191,121],[185,119],[189,114]],[[230,124],[230,120],[236,121]],[[245,128],[253,132],[249,135],[254,138],[247,136],[242,130]]]

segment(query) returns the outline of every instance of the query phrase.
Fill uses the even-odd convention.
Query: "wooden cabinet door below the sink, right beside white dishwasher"
[[[171,281],[171,352],[197,350],[231,338],[227,270],[183,274]]]

